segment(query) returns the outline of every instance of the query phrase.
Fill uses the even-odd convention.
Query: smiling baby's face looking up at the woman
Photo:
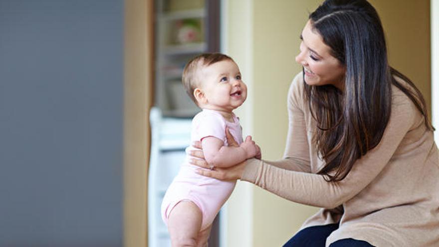
[[[241,80],[238,66],[231,60],[206,66],[199,76],[200,89],[206,97],[203,108],[231,112],[247,98],[247,86]]]

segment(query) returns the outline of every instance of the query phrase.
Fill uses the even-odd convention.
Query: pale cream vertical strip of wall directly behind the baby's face
[[[224,0],[222,26],[223,51],[239,65],[243,81],[247,84],[246,102],[235,113],[240,116],[243,135],[251,135],[253,128],[253,23],[252,0]],[[236,11],[237,10],[237,11]],[[221,210],[221,237],[223,247],[252,247],[253,186],[238,181]],[[225,219],[225,221],[224,221]]]

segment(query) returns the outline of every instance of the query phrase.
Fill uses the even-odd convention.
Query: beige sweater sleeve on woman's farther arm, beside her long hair
[[[298,100],[303,97],[302,73],[298,73],[288,90],[288,133],[283,158],[277,161],[264,161],[272,166],[298,172],[310,173],[310,158],[303,105]]]

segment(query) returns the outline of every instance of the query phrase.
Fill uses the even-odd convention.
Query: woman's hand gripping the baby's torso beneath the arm
[[[225,129],[225,138],[227,139],[229,147],[239,147],[238,143],[233,139],[233,136],[230,134],[228,128]],[[192,165],[209,169],[198,169],[197,172],[199,174],[223,181],[238,180],[241,178],[241,175],[244,172],[245,161],[227,168],[213,167],[205,160],[201,142],[194,142],[192,146],[199,150],[192,150],[191,155],[199,159],[191,159],[190,163]]]

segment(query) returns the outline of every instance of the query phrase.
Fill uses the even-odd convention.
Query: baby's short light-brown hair
[[[188,93],[189,97],[195,102],[195,104],[198,105],[197,99],[194,96],[194,90],[199,85],[199,78],[198,78],[198,72],[201,68],[204,66],[209,66],[211,64],[214,64],[216,62],[224,61],[224,60],[231,60],[231,57],[224,55],[219,52],[215,53],[203,53],[200,54],[194,58],[192,58],[183,69],[183,76],[182,76],[182,82],[183,86],[186,89],[186,92]]]

